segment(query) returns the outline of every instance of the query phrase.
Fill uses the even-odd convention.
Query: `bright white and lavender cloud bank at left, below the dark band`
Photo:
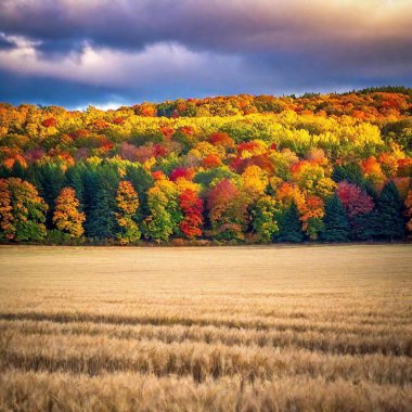
[[[5,38],[14,47],[0,50],[0,68],[20,75],[120,88],[162,87],[181,80],[218,81],[222,75],[239,77],[239,57],[193,52],[177,43],[155,43],[131,52],[98,49],[85,41],[80,52],[49,60],[37,50],[36,41],[18,36]]]

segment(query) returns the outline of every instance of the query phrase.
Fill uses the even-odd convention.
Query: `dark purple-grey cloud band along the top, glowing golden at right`
[[[3,31],[74,46],[236,52],[409,39],[410,0],[3,0]]]

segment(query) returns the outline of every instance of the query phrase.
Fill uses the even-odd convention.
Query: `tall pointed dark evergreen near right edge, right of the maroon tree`
[[[385,184],[377,199],[379,237],[394,241],[404,236],[403,203],[392,181]]]

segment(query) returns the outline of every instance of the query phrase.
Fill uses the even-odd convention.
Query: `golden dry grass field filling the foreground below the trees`
[[[411,411],[412,246],[0,247],[1,411]]]

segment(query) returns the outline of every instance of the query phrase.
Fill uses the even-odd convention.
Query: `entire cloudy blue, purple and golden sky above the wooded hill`
[[[412,0],[0,0],[0,101],[412,86]]]

